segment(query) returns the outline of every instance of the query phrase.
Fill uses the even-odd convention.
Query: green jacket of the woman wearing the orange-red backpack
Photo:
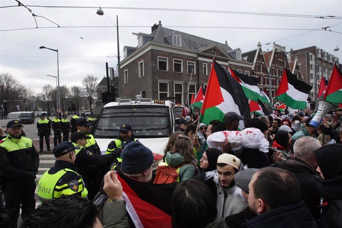
[[[165,161],[169,166],[176,168],[185,164],[185,159],[179,153],[171,154],[170,151],[167,152]],[[184,181],[195,177],[196,167],[192,164],[185,164],[179,169],[179,180]]]

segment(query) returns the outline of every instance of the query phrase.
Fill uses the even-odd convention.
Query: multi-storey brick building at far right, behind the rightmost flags
[[[303,80],[313,88],[310,92],[311,101],[316,101],[318,93],[317,82],[321,77],[329,80],[333,72],[334,63],[339,64],[339,58],[316,47],[292,50],[288,54],[290,61],[298,60]]]

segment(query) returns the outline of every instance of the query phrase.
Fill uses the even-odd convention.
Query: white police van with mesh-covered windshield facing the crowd
[[[153,152],[156,161],[160,160],[174,132],[172,102],[140,98],[106,104],[91,129],[102,153],[119,135],[119,128],[125,123],[132,126],[134,138]]]

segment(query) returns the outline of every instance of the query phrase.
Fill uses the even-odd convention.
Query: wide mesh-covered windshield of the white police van
[[[104,108],[91,130],[95,138],[116,138],[122,124],[132,126],[135,138],[158,138],[171,135],[167,106],[115,106]]]

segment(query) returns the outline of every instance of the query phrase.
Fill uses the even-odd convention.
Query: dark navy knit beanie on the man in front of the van
[[[121,152],[121,170],[127,174],[135,174],[148,170],[154,157],[150,149],[139,141],[128,143]]]

